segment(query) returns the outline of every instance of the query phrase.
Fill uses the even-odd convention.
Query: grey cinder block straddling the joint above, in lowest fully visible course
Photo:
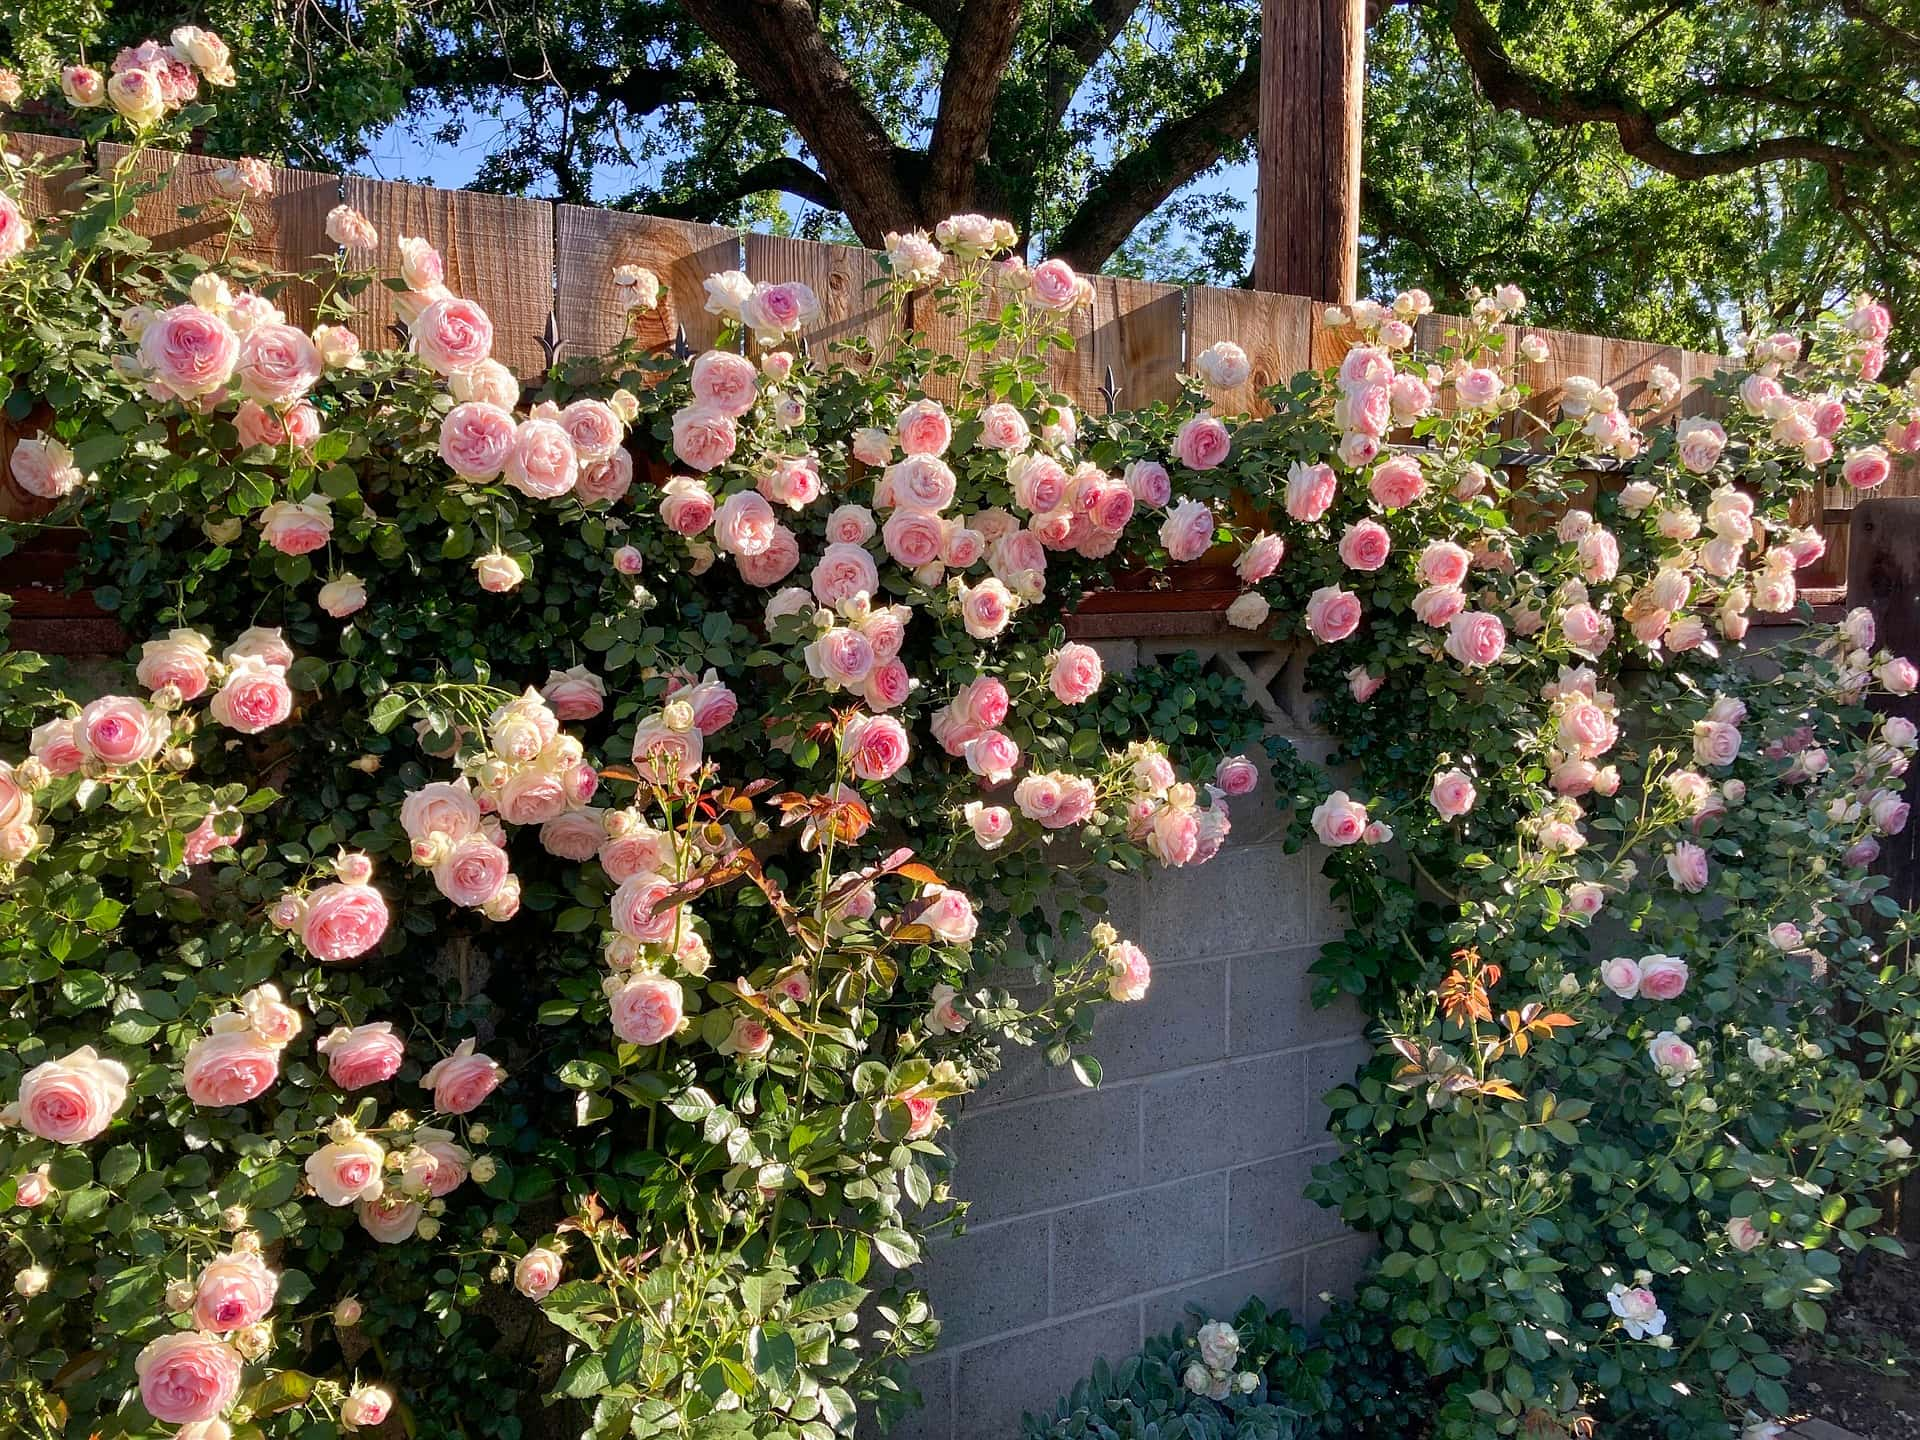
[[[1227,1263],[1227,1177],[1200,1175],[1054,1217],[1052,1313],[1160,1290]]]

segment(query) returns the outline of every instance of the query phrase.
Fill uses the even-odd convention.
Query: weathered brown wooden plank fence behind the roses
[[[60,156],[79,150],[73,140],[33,134],[6,138],[15,152],[25,154]],[[92,163],[111,167],[125,154],[119,146],[102,144]],[[161,188],[140,200],[132,225],[157,246],[188,246],[215,255],[225,223],[213,217],[186,221],[179,211],[215,200],[211,171],[219,161],[150,152],[140,163],[142,175],[161,180]],[[44,186],[25,196],[25,202],[42,215],[60,209],[58,196],[46,194]],[[566,355],[609,349],[628,334],[630,319],[636,326],[632,334],[649,346],[664,348],[678,332],[695,349],[710,344],[716,321],[703,309],[701,280],[724,269],[743,269],[755,280],[804,280],[812,286],[822,301],[822,317],[806,340],[816,348],[852,336],[885,342],[895,323],[881,300],[883,292],[868,288],[881,275],[879,255],[868,250],[357,175],[276,169],[275,194],[246,205],[252,236],[238,250],[273,269],[307,269],[315,255],[332,252],[324,219],[342,202],[380,228],[390,263],[396,236],[426,236],[445,259],[447,284],[455,294],[488,307],[495,323],[497,355],[522,374],[545,369],[549,346]],[[666,298],[659,311],[636,317],[624,313],[614,296],[612,273],[616,265],[628,263],[645,265],[664,282]],[[300,288],[282,298],[282,309],[296,323],[311,321],[311,305],[313,296]],[[357,323],[363,344],[392,344],[392,294],[382,286],[367,290]],[[958,346],[958,321],[937,313],[924,298],[908,303],[904,323],[924,344],[937,349]],[[1436,342],[1450,323],[1444,315],[1427,317],[1421,323],[1423,342]],[[1177,376],[1188,357],[1215,340],[1240,344],[1252,359],[1252,378],[1238,394],[1227,396],[1221,409],[1258,411],[1260,388],[1296,371],[1336,361],[1352,338],[1331,330],[1323,307],[1300,296],[1119,276],[1094,278],[1094,301],[1075,315],[1073,330],[1075,348],[1052,355],[1052,380],[1075,407],[1089,413],[1169,399],[1177,394]],[[1507,344],[1517,344],[1528,330],[1532,326],[1509,326]],[[1668,367],[1690,384],[1720,365],[1716,355],[1674,346],[1536,332],[1549,346],[1546,361],[1523,365],[1534,392],[1528,409],[1536,415],[1551,415],[1561,384],[1571,374],[1592,376],[1632,401],[1655,365]],[[1688,411],[1703,407],[1703,396],[1686,399]],[[0,420],[0,516],[23,515],[33,505],[6,478],[4,459],[10,449],[12,436]],[[1889,488],[1897,493],[1920,493],[1912,476],[1899,476]],[[1803,520],[1818,520],[1828,536],[1828,559],[1811,576],[1814,589],[1843,584],[1847,503],[1851,495],[1828,493],[1814,495],[1805,505]],[[8,576],[8,588],[17,597],[23,620],[81,620],[88,612],[86,607],[77,609],[71,597],[56,593],[63,574],[58,545],[15,561],[10,568],[15,574]],[[1217,605],[1225,601],[1208,597],[1194,609]]]

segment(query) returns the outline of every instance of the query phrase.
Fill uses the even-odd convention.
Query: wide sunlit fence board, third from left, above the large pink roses
[[[553,205],[359,175],[348,177],[346,202],[380,230],[382,276],[399,269],[399,236],[424,236],[447,265],[447,288],[493,319],[493,357],[526,380],[545,372],[540,336],[553,313]],[[361,342],[392,346],[394,292],[369,286],[359,307]]]

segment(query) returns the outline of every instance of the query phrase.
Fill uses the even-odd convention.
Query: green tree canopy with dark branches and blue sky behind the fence
[[[173,0],[25,0],[15,63]],[[271,84],[207,136],[351,167],[396,121],[478,184],[877,244],[981,209],[1083,269],[1246,276],[1258,0],[207,0]],[[1369,8],[1363,282],[1724,346],[1920,309],[1920,0]],[[48,123],[58,119],[50,113]],[[643,179],[636,179],[643,177]]]

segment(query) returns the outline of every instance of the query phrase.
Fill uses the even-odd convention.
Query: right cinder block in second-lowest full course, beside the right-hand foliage
[[[1298,1054],[1261,1056],[1146,1081],[1148,1185],[1265,1160],[1309,1142]]]

